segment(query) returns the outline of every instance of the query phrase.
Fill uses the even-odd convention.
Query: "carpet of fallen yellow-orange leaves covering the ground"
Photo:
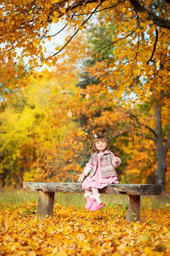
[[[40,219],[36,202],[0,204],[0,255],[169,256],[170,207],[144,208],[141,222],[127,222],[117,207],[95,212],[54,204]]]

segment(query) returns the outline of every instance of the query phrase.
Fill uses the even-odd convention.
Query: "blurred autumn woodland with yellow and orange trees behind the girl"
[[[76,182],[97,133],[122,160],[121,183],[170,191],[169,10],[149,0],[1,3],[2,186]],[[63,45],[53,44],[59,22]]]

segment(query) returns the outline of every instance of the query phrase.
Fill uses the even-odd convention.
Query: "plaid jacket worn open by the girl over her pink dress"
[[[116,164],[113,160],[113,153],[110,150],[105,150],[104,154],[100,156],[100,170],[103,178],[109,178],[117,176],[117,173],[115,171],[114,167],[120,166],[121,160],[118,157],[118,163]],[[86,164],[86,166],[90,166],[92,168],[91,173],[89,174],[90,177],[92,177],[97,170],[98,165],[98,153],[92,154],[89,162]]]

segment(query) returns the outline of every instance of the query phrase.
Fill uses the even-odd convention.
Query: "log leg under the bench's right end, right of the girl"
[[[128,209],[126,213],[127,221],[141,221],[140,218],[140,195],[126,195]]]

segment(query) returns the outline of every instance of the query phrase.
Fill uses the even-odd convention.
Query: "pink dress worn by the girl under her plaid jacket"
[[[98,166],[97,166],[96,173],[92,177],[88,176],[87,178],[85,178],[85,180],[82,183],[82,189],[91,189],[91,188],[102,189],[105,186],[107,186],[107,184],[111,184],[111,183],[118,184],[120,182],[118,181],[118,178],[116,176],[109,177],[109,178],[102,178],[102,174],[100,171],[100,155],[98,154]]]

